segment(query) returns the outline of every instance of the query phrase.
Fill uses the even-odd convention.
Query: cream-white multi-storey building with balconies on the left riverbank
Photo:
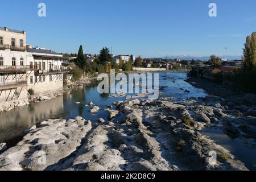
[[[45,48],[26,46],[26,32],[0,28],[0,103],[28,98],[63,88],[67,65],[63,56]]]

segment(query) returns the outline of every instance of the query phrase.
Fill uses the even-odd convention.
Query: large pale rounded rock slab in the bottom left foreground
[[[75,151],[91,128],[80,117],[44,121],[0,155],[0,170],[44,170]]]

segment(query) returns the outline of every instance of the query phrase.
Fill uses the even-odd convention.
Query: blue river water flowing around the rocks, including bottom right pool
[[[176,101],[187,100],[189,97],[205,97],[208,94],[203,89],[195,88],[185,81],[187,73],[184,72],[162,72],[159,73],[160,92],[163,92],[162,97],[173,97]],[[189,90],[190,92],[184,92]],[[97,92],[97,84],[84,85],[80,88],[75,88],[65,92],[63,96],[59,96],[52,100],[33,103],[27,106],[18,107],[14,110],[0,114],[0,143],[5,142],[7,146],[13,146],[22,139],[24,131],[31,126],[39,124],[45,119],[70,119],[77,115],[88,119],[92,122],[97,122],[98,118],[108,120],[107,105],[112,105],[113,102],[125,101],[126,97],[110,98],[109,94],[100,94]],[[90,113],[91,109],[88,102],[100,107],[97,113]],[[80,104],[76,104],[80,102]],[[114,106],[113,106],[114,107]],[[115,120],[121,119],[122,116]],[[225,133],[219,132],[217,137],[214,134],[215,129],[205,129],[205,135],[212,137],[217,144],[229,149],[232,154],[238,159],[246,163],[246,167],[256,169],[256,142],[253,139],[239,140],[233,142]],[[225,142],[224,142],[225,141]],[[231,142],[230,142],[231,141]],[[238,144],[240,144],[238,146]],[[239,150],[242,146],[242,150]],[[240,148],[241,149],[241,148]],[[251,158],[246,155],[249,151]]]

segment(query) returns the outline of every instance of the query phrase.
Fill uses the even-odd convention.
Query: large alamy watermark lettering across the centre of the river
[[[115,70],[111,69],[110,76],[102,73],[98,75],[98,81],[101,81],[98,84],[100,94],[148,94],[149,100],[159,98],[159,73],[129,73],[127,76],[124,73],[116,75]]]

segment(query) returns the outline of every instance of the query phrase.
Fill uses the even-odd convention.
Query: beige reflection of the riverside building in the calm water
[[[11,142],[24,130],[46,118],[61,118],[63,97],[42,101],[0,114],[0,142]]]

